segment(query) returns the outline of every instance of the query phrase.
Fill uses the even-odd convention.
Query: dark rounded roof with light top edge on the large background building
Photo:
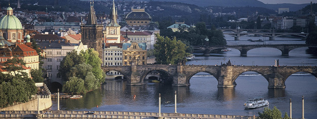
[[[151,16],[144,9],[132,9],[126,20],[151,20]]]

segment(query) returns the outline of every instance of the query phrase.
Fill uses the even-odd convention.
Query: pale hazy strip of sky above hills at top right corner
[[[258,0],[264,4],[284,4],[284,3],[290,3],[290,4],[307,4],[307,3],[317,3],[317,0]]]

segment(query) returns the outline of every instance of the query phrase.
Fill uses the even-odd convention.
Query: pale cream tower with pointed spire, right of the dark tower
[[[114,0],[111,13],[111,21],[106,26],[105,39],[106,43],[120,43],[120,25],[116,22],[117,11],[114,7]]]

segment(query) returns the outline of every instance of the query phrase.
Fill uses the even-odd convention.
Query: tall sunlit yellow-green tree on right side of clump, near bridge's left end
[[[99,83],[103,83],[105,81],[105,73],[101,69],[101,59],[99,58],[99,53],[94,49],[88,49],[86,51],[81,51],[80,55],[84,57],[85,62],[92,66],[92,72],[95,77],[98,79]]]

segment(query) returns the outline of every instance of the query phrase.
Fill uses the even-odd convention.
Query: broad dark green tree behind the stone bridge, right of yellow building
[[[157,64],[177,64],[189,55],[185,52],[187,49],[186,45],[181,41],[177,41],[176,37],[173,40],[158,34],[156,37],[154,56]]]

